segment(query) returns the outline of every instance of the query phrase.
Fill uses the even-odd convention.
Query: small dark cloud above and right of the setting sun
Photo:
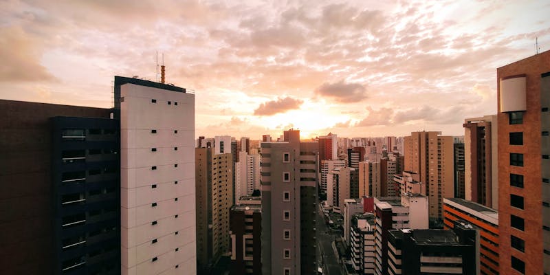
[[[318,96],[326,96],[342,103],[358,102],[364,100],[366,88],[359,83],[345,83],[340,80],[338,83],[323,83],[316,90]]]

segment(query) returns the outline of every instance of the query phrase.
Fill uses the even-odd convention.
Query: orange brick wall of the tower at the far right
[[[550,169],[547,167],[550,167],[550,163],[549,159],[541,157],[542,151],[547,151],[549,148],[548,135],[541,135],[543,131],[549,131],[549,113],[542,111],[542,108],[548,108],[547,104],[549,103],[547,101],[548,80],[546,75],[544,78],[541,77],[541,74],[548,72],[550,72],[550,52],[543,52],[496,70],[499,102],[497,116],[500,270],[512,272],[511,257],[514,256],[525,263],[525,274],[550,274],[549,254],[541,253],[544,249],[548,249],[544,247],[548,242],[541,242],[541,240],[550,239],[549,231],[542,229],[543,225],[549,226],[548,223],[543,223],[543,221],[547,222],[546,217],[549,217],[550,213],[546,206],[542,206],[542,201],[547,199],[550,194],[550,186],[544,182],[549,180]],[[514,80],[514,78],[516,80],[525,79],[525,85],[522,85],[523,87],[503,87],[505,80]],[[544,87],[542,83],[544,83]],[[506,88],[508,92],[513,92],[513,96],[518,98],[509,100],[507,96],[503,96],[503,88]],[[543,98],[546,106],[543,105]],[[525,103],[525,107],[519,106],[522,102]],[[510,109],[510,106],[507,105],[510,103],[518,105],[515,106],[516,108]],[[522,124],[509,124],[508,113],[503,111],[522,111],[522,109],[525,109]],[[511,132],[523,133],[523,145],[509,144],[509,133]],[[510,153],[523,154],[523,166],[510,165]],[[523,176],[523,188],[510,185],[511,173]],[[523,197],[525,210],[512,207],[510,195]],[[511,215],[524,221],[524,230],[511,227]],[[525,252],[511,248],[511,235],[525,241]]]

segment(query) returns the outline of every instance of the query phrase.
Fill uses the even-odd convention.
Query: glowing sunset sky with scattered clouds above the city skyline
[[[0,0],[0,99],[113,106],[113,76],[195,92],[195,134],[463,135],[496,68],[550,50],[550,1]]]

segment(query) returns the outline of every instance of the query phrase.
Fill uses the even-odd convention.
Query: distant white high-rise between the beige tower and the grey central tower
[[[260,155],[248,155],[246,151],[239,152],[240,162],[235,170],[235,197],[252,195],[260,189]]]

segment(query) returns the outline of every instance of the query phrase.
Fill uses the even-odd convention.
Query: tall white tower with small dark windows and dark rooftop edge
[[[122,274],[195,274],[195,95],[115,77],[118,98]]]

